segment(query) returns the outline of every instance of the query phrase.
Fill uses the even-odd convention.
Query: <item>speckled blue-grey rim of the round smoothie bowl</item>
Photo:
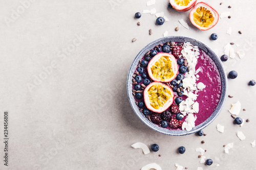
[[[132,85],[132,79],[133,79],[133,75],[134,72],[139,64],[139,61],[144,57],[144,55],[146,54],[146,52],[150,51],[152,48],[154,48],[156,45],[162,44],[162,43],[166,43],[167,41],[176,41],[176,42],[190,42],[193,45],[197,45],[199,48],[201,48],[206,54],[208,54],[208,56],[215,62],[215,64],[217,65],[219,72],[220,72],[220,77],[221,77],[221,84],[222,84],[222,89],[221,89],[221,97],[220,97],[220,102],[217,105],[215,111],[210,115],[210,117],[208,117],[203,123],[201,123],[200,125],[194,127],[191,131],[186,131],[186,130],[169,130],[169,129],[165,129],[165,128],[161,128],[158,125],[150,122],[150,120],[148,120],[141,112],[139,112],[139,108],[136,105],[136,101],[134,99],[134,96],[132,94],[132,89],[133,89],[133,85]],[[141,121],[146,124],[148,127],[150,127],[151,129],[163,133],[163,134],[167,134],[167,135],[173,135],[173,136],[181,136],[181,135],[188,135],[188,134],[192,134],[195,133],[203,128],[205,128],[206,126],[208,126],[221,112],[221,109],[224,105],[224,102],[226,100],[226,94],[227,94],[227,76],[226,73],[224,71],[224,67],[222,65],[222,62],[220,60],[220,58],[204,43],[193,39],[193,38],[188,38],[188,37],[163,37],[160,39],[157,39],[153,42],[151,42],[150,44],[147,44],[140,52],[139,54],[136,56],[136,58],[134,59],[132,66],[129,70],[129,74],[128,74],[128,78],[127,78],[127,93],[128,93],[128,97],[129,97],[129,101],[130,104],[134,110],[134,112],[136,113],[136,115],[141,119]]]

